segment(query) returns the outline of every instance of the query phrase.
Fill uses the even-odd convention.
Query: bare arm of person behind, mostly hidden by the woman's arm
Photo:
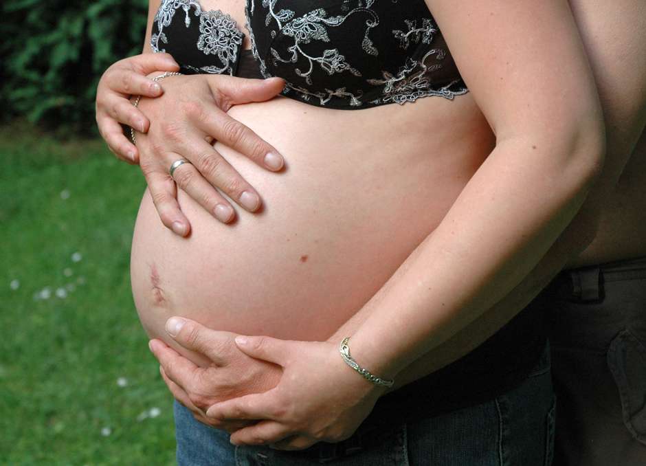
[[[570,0],[601,99],[607,152],[603,172],[568,228],[531,273],[480,318],[406,368],[397,386],[423,377],[469,353],[530,302],[563,267],[577,263],[599,226],[599,216],[629,159],[644,157],[634,148],[646,126],[646,5],[641,0],[617,3]],[[630,54],[630,60],[625,54]],[[359,326],[348,321],[331,341],[351,335]],[[365,315],[364,315],[365,317]]]

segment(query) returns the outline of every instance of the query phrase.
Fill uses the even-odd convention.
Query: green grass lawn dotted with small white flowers
[[[0,129],[0,464],[174,464],[133,304],[144,180],[100,141]]]

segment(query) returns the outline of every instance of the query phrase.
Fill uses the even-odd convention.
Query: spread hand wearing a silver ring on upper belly
[[[181,236],[190,231],[177,203],[177,187],[223,223],[232,221],[235,212],[215,188],[249,212],[260,208],[256,190],[211,143],[217,140],[268,170],[281,170],[285,161],[276,148],[227,111],[237,104],[269,100],[284,84],[280,78],[172,76],[164,79],[163,96],[141,100],[139,107],[150,118],[151,126],[147,134],[137,135],[140,166],[166,227]],[[190,164],[183,164],[170,177],[168,170],[179,159],[188,159]]]

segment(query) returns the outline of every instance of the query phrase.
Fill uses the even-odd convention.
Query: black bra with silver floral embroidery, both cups
[[[424,0],[246,1],[255,63],[234,19],[198,0],[161,1],[153,51],[188,73],[280,76],[285,96],[334,109],[467,92]]]

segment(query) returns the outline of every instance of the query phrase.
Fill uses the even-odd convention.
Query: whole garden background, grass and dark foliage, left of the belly
[[[91,134],[146,3],[0,0],[1,466],[175,464],[129,279],[145,180]]]

